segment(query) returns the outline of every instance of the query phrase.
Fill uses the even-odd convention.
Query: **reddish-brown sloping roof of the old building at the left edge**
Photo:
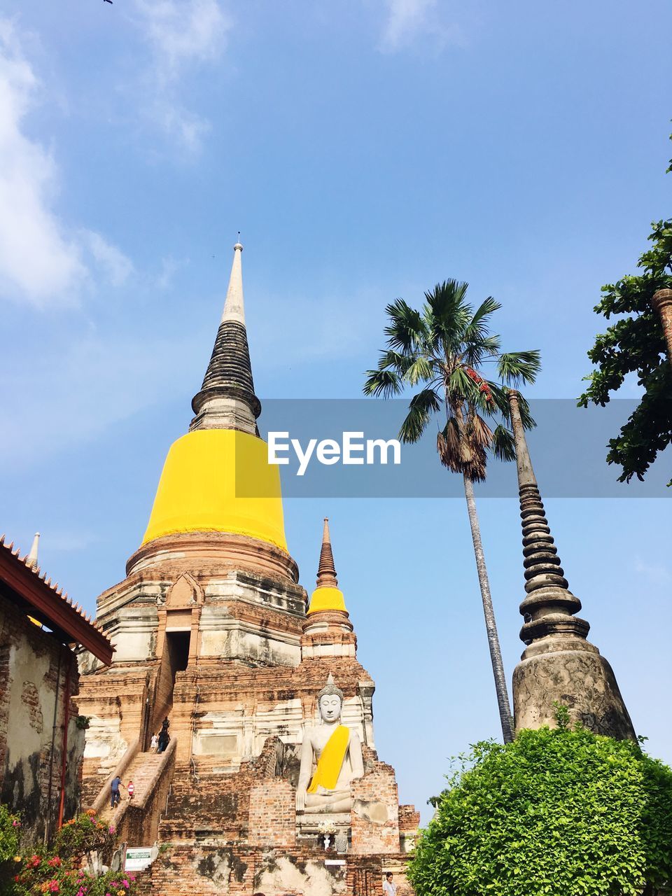
[[[13,542],[5,545],[4,535],[0,536],[0,593],[51,629],[59,641],[81,644],[105,665],[111,663],[114,648],[108,637],[57,582],[52,584],[40,572],[32,554],[31,549],[20,556]]]

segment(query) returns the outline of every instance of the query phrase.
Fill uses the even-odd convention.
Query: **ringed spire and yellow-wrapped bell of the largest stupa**
[[[280,548],[286,564],[280,471],[269,464],[256,428],[262,406],[247,346],[242,252],[236,243],[214,349],[192,402],[195,416],[190,431],[170,446],[142,548],[168,535],[222,532]]]

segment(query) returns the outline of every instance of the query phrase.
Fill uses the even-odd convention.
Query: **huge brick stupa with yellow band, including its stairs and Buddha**
[[[149,849],[144,888],[157,896],[373,896],[388,871],[401,896],[418,814],[375,752],[375,685],[327,521],[310,599],[289,555],[256,426],[242,249],[189,431],[168,451],[126,578],[98,599],[116,652],[107,668],[82,662],[83,806]],[[168,747],[154,753],[161,728]],[[116,774],[135,795],[112,810]]]

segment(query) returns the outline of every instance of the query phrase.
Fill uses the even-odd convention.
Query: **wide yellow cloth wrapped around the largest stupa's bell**
[[[269,464],[263,439],[237,429],[197,429],[170,446],[142,544],[203,531],[287,550],[280,470]]]

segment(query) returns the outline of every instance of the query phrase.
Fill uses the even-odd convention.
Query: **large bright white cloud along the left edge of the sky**
[[[17,30],[0,19],[0,299],[44,307],[76,302],[97,274],[115,285],[130,262],[99,234],[68,228],[57,214],[56,162],[25,133],[40,90]]]

